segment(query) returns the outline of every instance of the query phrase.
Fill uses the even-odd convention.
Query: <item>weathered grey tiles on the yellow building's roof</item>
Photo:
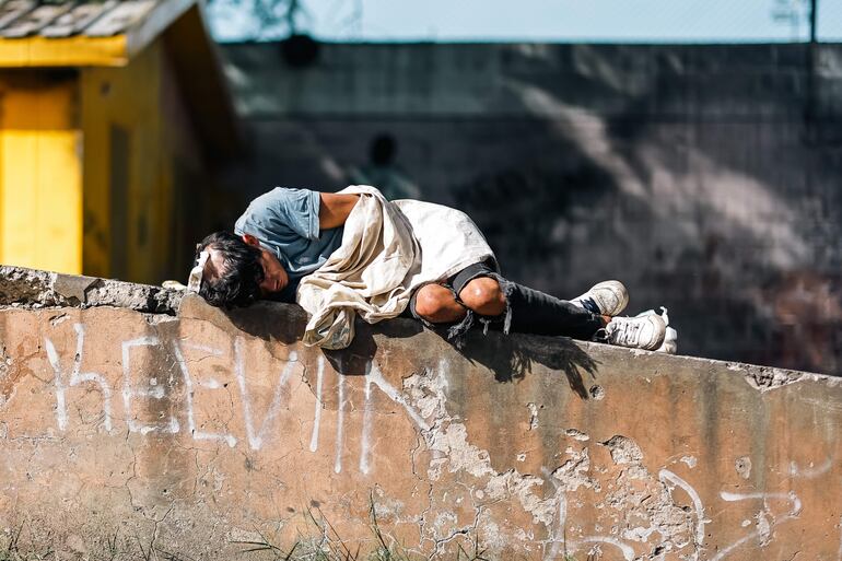
[[[0,3],[0,36],[110,37],[142,21],[162,0],[107,0],[39,4],[34,0]]]

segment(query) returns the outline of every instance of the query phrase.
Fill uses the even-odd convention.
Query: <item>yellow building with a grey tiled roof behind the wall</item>
[[[0,4],[0,262],[184,278],[239,138],[200,2]]]

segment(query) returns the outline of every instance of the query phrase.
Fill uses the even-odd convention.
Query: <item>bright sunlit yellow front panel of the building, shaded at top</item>
[[[82,271],[82,170],[75,82],[14,74],[0,82],[0,260]]]

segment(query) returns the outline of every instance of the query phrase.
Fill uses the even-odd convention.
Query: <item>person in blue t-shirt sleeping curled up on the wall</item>
[[[367,186],[340,192],[276,188],[256,198],[234,233],[197,246],[190,288],[214,306],[268,299],[309,314],[306,344],[339,349],[359,314],[409,315],[461,338],[479,323],[510,331],[657,349],[662,316],[617,317],[629,296],[605,281],[572,301],[506,280],[465,213],[417,200],[387,201]]]

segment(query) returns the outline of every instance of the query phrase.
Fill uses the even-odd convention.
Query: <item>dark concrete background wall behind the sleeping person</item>
[[[841,45],[223,54],[254,149],[241,203],[341,188],[388,132],[510,278],[563,297],[619,278],[632,312],[669,307],[682,353],[842,373]]]

